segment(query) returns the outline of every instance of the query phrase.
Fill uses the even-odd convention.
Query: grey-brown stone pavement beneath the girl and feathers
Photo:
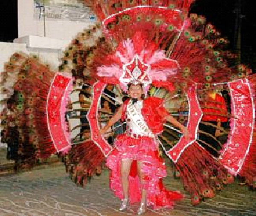
[[[182,188],[179,180],[165,178],[167,187]],[[0,216],[125,216],[136,215],[137,205],[119,212],[120,201],[108,188],[108,170],[86,188],[76,187],[64,165],[0,177]],[[229,185],[214,199],[198,206],[189,197],[174,209],[150,210],[144,216],[255,216],[256,191]]]

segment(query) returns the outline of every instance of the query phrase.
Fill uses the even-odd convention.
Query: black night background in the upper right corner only
[[[239,6],[240,3],[240,6]],[[239,13],[240,9],[240,13]],[[191,13],[201,14],[212,23],[221,35],[230,41],[229,49],[241,50],[241,63],[250,65],[256,72],[256,2],[253,0],[197,0]],[[241,47],[237,47],[241,28]]]

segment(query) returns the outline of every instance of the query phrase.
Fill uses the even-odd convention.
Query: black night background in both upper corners
[[[241,6],[239,7],[239,2]],[[239,13],[238,10],[241,10]],[[256,69],[256,3],[253,0],[197,0],[191,13],[204,15],[237,49],[238,27],[241,26],[241,61]],[[17,0],[0,0],[0,41],[12,42],[18,37]]]

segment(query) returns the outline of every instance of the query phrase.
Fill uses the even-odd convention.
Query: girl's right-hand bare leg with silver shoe
[[[143,180],[144,173],[142,171],[142,163],[141,161],[137,161],[137,170],[140,177],[140,184],[141,184],[141,201],[140,201],[140,208],[138,209],[138,215],[145,213],[146,210],[146,201],[147,201],[147,190],[146,190],[146,182]]]

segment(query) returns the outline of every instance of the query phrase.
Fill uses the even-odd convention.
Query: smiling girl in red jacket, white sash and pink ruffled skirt
[[[126,120],[126,133],[117,137],[107,166],[112,171],[111,189],[123,199],[119,210],[125,210],[129,201],[138,202],[141,197],[137,212],[140,215],[145,212],[146,204],[154,208],[172,207],[172,201],[182,199],[180,193],[163,187],[162,178],[166,176],[166,171],[163,159],[158,154],[156,135],[162,132],[164,121],[179,127],[186,135],[187,130],[169,115],[161,99],[150,97],[143,100],[143,84],[129,83],[128,94],[130,99],[125,101],[101,133],[105,133],[119,119]],[[134,178],[136,172],[139,177]]]

